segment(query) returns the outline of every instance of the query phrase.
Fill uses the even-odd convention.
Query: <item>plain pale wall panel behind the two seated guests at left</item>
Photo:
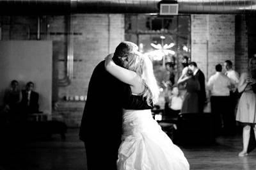
[[[34,90],[39,93],[40,111],[51,114],[52,42],[0,41],[1,104],[13,79],[19,81],[22,89],[26,82],[33,81]]]

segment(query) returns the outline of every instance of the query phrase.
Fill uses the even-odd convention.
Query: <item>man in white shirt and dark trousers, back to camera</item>
[[[231,129],[230,124],[230,86],[232,82],[226,75],[221,73],[222,66],[220,64],[215,66],[216,73],[212,75],[207,82],[207,89],[211,95],[211,112],[214,118],[214,132],[215,135],[220,133],[221,128],[224,132],[229,133]],[[222,117],[222,119],[221,119]],[[221,125],[221,120],[223,125]]]

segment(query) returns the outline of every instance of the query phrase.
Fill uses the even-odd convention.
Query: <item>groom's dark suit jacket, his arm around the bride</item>
[[[108,73],[102,61],[93,70],[89,82],[79,138],[91,145],[102,141],[106,147],[118,150],[123,108],[151,109],[143,97],[132,95],[128,84]]]

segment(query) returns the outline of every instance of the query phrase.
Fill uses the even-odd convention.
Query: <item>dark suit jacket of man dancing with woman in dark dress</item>
[[[206,100],[206,93],[205,93],[205,77],[204,73],[199,69],[196,74],[195,78],[199,81],[200,84],[200,91],[198,92],[198,99],[199,102],[205,102]],[[204,105],[204,103],[203,103]]]

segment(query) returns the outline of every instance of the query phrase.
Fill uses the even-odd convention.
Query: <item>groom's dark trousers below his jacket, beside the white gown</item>
[[[109,146],[105,140],[108,139],[101,139],[100,143],[84,143],[88,170],[117,169],[118,149]]]

